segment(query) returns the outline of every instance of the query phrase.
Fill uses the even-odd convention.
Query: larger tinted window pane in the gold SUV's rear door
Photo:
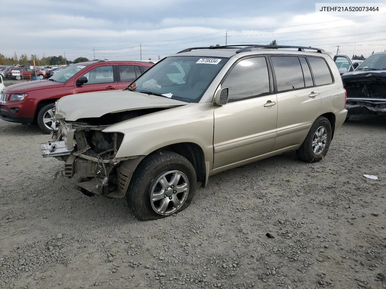
[[[271,56],[278,91],[303,88],[304,78],[297,56]]]

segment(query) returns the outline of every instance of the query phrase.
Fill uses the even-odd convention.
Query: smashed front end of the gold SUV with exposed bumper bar
[[[108,126],[59,119],[52,141],[41,144],[42,156],[64,161],[64,176],[76,174],[78,189],[86,195],[123,198],[144,156],[117,158],[124,134],[103,133]]]

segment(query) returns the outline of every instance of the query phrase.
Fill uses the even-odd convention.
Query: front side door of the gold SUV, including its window
[[[278,106],[267,57],[239,60],[221,84],[228,103],[214,108],[213,169],[227,170],[272,151]]]

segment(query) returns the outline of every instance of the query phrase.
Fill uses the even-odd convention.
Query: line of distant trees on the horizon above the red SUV
[[[27,54],[22,54],[20,57],[17,56],[16,52],[12,57],[6,57],[2,53],[0,53],[0,65],[35,65],[36,66],[43,66],[43,65],[64,65],[64,64],[71,64],[71,63],[78,63],[82,61],[88,61],[86,57],[78,57],[74,59],[73,61],[65,59],[62,55],[59,56],[47,56],[42,57],[39,59],[37,54],[31,54],[30,57],[27,56]],[[95,59],[100,60],[100,59]],[[107,60],[107,59],[105,59]]]

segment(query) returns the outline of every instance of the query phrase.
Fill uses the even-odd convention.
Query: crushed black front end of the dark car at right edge
[[[364,77],[342,79],[347,91],[347,116],[386,114],[386,75],[367,72]]]

